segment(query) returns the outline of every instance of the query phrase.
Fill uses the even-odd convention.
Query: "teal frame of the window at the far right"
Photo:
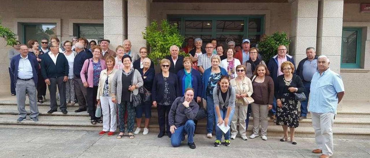
[[[343,53],[343,42],[342,42],[342,44],[341,44],[341,53],[340,53],[340,68],[349,68],[349,69],[361,68],[361,39],[362,39],[361,35],[362,35],[362,28],[343,27],[342,35],[343,35],[343,31],[357,31],[356,63],[342,63],[342,53]]]

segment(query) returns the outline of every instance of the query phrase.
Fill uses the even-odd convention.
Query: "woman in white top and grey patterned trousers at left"
[[[72,50],[72,42],[65,41],[63,43],[65,51],[63,52],[65,58],[67,58],[69,69],[68,69],[68,80],[65,82],[65,94],[66,94],[66,102],[71,103],[72,105],[75,104],[75,93],[74,93],[74,81],[73,81],[73,62],[74,56],[76,54],[75,51]]]

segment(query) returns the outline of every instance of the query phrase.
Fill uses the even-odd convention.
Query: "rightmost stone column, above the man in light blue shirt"
[[[340,72],[342,53],[343,0],[319,0],[317,54],[330,59],[330,69]]]

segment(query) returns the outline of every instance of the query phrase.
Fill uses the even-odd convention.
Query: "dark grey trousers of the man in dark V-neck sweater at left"
[[[65,103],[65,82],[63,82],[64,76],[58,78],[49,78],[49,92],[50,92],[50,109],[57,110],[57,86],[60,95],[60,110],[67,109],[67,104]]]

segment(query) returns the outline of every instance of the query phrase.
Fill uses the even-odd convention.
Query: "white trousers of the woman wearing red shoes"
[[[115,132],[117,129],[117,105],[111,97],[100,96],[101,111],[103,114],[103,131]]]

